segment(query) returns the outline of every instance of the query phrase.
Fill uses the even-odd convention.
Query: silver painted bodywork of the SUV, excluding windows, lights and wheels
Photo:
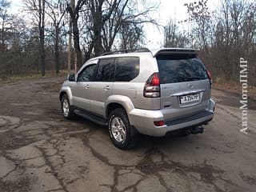
[[[128,115],[130,125],[134,126],[140,133],[151,136],[163,136],[168,131],[182,129],[188,126],[208,122],[214,117],[214,101],[210,98],[209,79],[193,82],[177,82],[161,84],[160,98],[145,98],[143,90],[146,80],[151,74],[158,72],[158,53],[172,50],[162,49],[154,52],[112,54],[92,58],[84,67],[96,64],[100,58],[116,57],[138,57],[140,60],[139,74],[130,82],[69,82],[65,81],[60,94],[65,92],[70,100],[70,105],[77,106],[92,114],[97,114],[107,119],[107,109],[112,103],[123,106]],[[195,50],[189,50],[195,51]],[[75,78],[78,78],[76,74]],[[184,94],[199,93],[198,102],[181,104],[179,97]],[[212,114],[197,118],[192,121],[182,122],[173,126],[154,126],[154,121],[171,121],[179,117],[190,117],[192,114],[210,111]],[[189,119],[189,118],[188,118]]]

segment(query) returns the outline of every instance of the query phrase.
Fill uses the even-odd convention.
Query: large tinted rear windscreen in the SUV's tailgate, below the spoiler
[[[162,84],[206,79],[206,69],[195,55],[160,55],[158,70]]]

